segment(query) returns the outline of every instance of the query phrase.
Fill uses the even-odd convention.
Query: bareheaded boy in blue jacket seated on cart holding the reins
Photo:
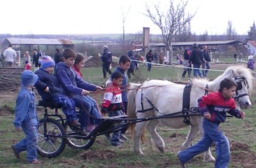
[[[93,104],[88,102],[84,96],[88,95],[89,91],[102,90],[100,86],[85,82],[80,76],[78,76],[72,68],[76,58],[76,52],[70,48],[65,49],[62,52],[62,60],[56,65],[55,76],[58,82],[64,89],[66,96],[70,97],[76,104],[76,107],[80,108],[81,114],[78,122],[80,127],[86,129],[87,132],[91,132],[94,129],[94,125],[98,125],[102,121],[98,110]],[[90,117],[94,119],[94,123],[90,123]]]

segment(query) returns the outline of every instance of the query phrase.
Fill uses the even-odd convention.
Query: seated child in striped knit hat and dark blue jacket
[[[41,67],[35,72],[38,76],[37,82],[34,84],[37,92],[46,102],[55,102],[62,107],[63,113],[66,115],[67,124],[74,128],[78,128],[80,124],[76,121],[76,106],[74,101],[64,96],[62,88],[57,81],[56,76],[52,74],[54,70],[54,61],[50,56],[44,56]]]

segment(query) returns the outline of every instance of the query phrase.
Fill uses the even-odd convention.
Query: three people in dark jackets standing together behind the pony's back
[[[198,45],[194,43],[192,45],[192,51],[190,52],[189,49],[185,49],[184,51],[184,72],[182,73],[182,78],[185,77],[186,72],[188,72],[188,77],[191,77],[191,71],[193,64],[193,76],[196,78],[197,76],[204,78],[208,77],[208,70],[210,69],[210,56],[207,52],[207,46],[203,46],[203,49],[200,50]],[[200,66],[202,65],[202,73],[200,72]]]

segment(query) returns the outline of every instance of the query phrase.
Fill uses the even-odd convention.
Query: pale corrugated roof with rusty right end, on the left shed
[[[58,38],[6,38],[6,40],[14,45],[74,45],[69,39]]]

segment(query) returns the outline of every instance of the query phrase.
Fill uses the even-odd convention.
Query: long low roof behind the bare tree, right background
[[[172,46],[192,46],[194,42],[172,42]],[[236,44],[243,42],[240,42],[238,40],[227,40],[227,41],[206,41],[206,42],[196,42],[198,45],[227,45],[227,44]],[[160,47],[160,46],[166,46],[164,43],[150,43],[149,46],[151,47]],[[142,47],[142,44],[136,45],[135,47]]]

